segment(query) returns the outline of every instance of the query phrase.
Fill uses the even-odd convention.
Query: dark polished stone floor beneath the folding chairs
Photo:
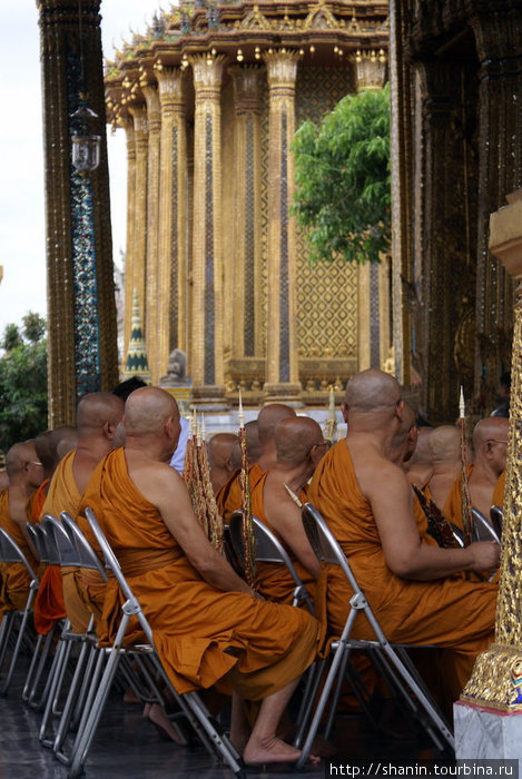
[[[65,779],[67,768],[39,743],[41,714],[21,702],[23,680],[24,670],[20,668],[8,696],[0,698],[0,779]],[[426,747],[423,750],[422,740],[404,732],[401,738],[376,736],[357,717],[338,718],[334,733],[338,755],[333,760],[430,761],[436,753]],[[249,770],[248,775],[253,779],[288,776],[280,769]],[[328,760],[304,771],[306,779],[329,775]],[[154,726],[142,719],[141,709],[136,704],[125,704],[121,696],[115,694],[109,699],[89,752],[86,776],[93,779],[184,779],[195,776],[198,779],[232,779],[233,775],[213,762],[205,750],[188,750],[160,740]]]

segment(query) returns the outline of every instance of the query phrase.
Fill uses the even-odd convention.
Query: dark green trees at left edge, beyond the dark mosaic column
[[[17,325],[7,325],[0,357],[0,451],[47,430],[46,323],[29,312]],[[14,331],[18,339],[13,338]]]

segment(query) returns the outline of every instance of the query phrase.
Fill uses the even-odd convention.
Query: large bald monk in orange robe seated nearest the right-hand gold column
[[[346,440],[323,457],[309,501],[349,559],[387,638],[451,652],[445,652],[445,682],[454,699],[476,655],[493,639],[498,592],[494,584],[475,584],[454,574],[495,569],[499,546],[483,542],[442,549],[420,538],[411,487],[402,469],[390,460],[403,416],[395,378],[376,369],[363,371],[348,382],[346,403]],[[338,566],[331,566],[326,575],[328,619],[339,634],[351,589]],[[354,637],[373,638],[364,617],[356,620]]]

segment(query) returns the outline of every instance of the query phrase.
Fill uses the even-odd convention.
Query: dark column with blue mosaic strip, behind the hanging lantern
[[[100,1],[38,0],[43,95],[49,426],[73,424],[83,394],[118,381]],[[81,14],[81,17],[79,16]],[[80,23],[81,20],[81,23]],[[80,43],[81,33],[81,43]],[[83,67],[82,67],[83,65]],[[98,115],[100,164],[71,164],[80,93]]]

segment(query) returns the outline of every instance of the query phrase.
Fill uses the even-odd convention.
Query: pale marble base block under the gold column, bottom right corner
[[[519,760],[522,768],[522,711],[495,711],[475,703],[453,706],[457,759]]]

